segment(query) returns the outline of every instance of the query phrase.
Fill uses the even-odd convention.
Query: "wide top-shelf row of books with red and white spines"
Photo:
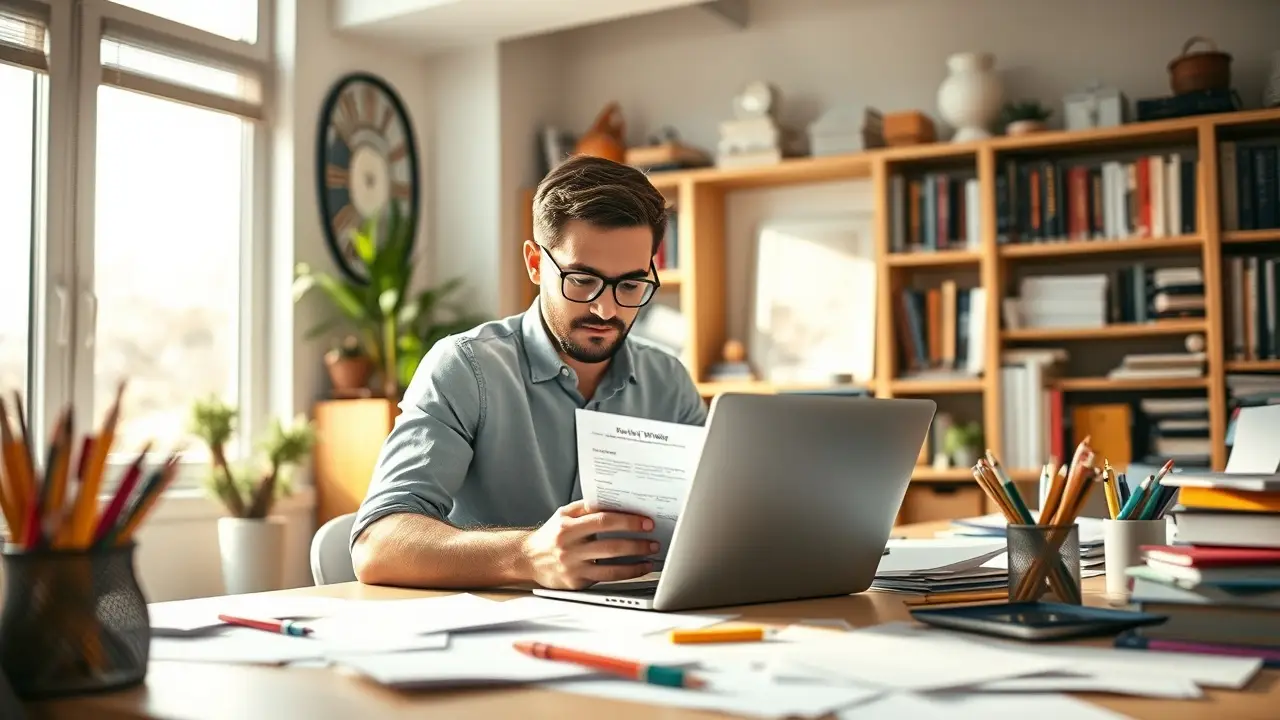
[[[996,177],[997,242],[1192,234],[1196,165],[1189,152],[1097,161],[1007,160]]]

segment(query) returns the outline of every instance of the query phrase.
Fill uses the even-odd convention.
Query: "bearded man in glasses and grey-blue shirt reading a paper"
[[[585,507],[575,410],[703,424],[669,354],[630,338],[658,290],[666,200],[639,170],[576,156],[534,196],[524,314],[438,342],[404,392],[352,529],[365,583],[581,589],[652,570],[649,518]],[[602,561],[602,562],[596,562]]]

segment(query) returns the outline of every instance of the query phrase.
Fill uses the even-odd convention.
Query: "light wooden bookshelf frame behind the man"
[[[1224,232],[1220,209],[1219,143],[1235,136],[1280,136],[1280,109],[1199,115],[1171,120],[1129,123],[1114,128],[1079,132],[1051,131],[1019,137],[876,149],[864,152],[788,159],[774,165],[721,170],[653,173],[654,184],[678,205],[678,269],[664,270],[663,286],[678,293],[681,310],[690,322],[686,363],[700,392],[713,397],[719,392],[780,392],[769,383],[709,383],[708,368],[719,360],[726,340],[726,197],[741,188],[783,187],[835,181],[869,181],[876,197],[877,234],[877,329],[876,375],[860,379],[878,397],[924,396],[940,401],[980,396],[986,443],[997,454],[1004,423],[998,369],[1002,351],[1036,342],[1100,342],[1107,347],[1129,342],[1171,342],[1178,336],[1202,333],[1207,346],[1206,374],[1201,378],[1111,379],[1107,377],[1065,377],[1052,382],[1064,393],[1129,393],[1133,397],[1160,396],[1166,391],[1201,391],[1208,400],[1212,439],[1212,465],[1226,462],[1228,372],[1280,372],[1280,361],[1225,361],[1222,307],[1224,245],[1280,243],[1280,229]],[[1044,241],[1000,243],[997,240],[997,178],[1007,160],[1044,155],[1070,158],[1106,154],[1164,152],[1188,147],[1184,159],[1197,161],[1194,169],[1196,224],[1193,232],[1165,233],[1166,237],[1129,240]],[[932,252],[891,252],[890,186],[895,174],[929,172],[934,168],[964,168],[977,178],[978,232],[961,250]],[[1184,228],[1179,228],[1184,229]],[[524,240],[524,238],[521,238]],[[1011,274],[1027,264],[1066,265],[1194,259],[1203,273],[1206,318],[1124,323],[1079,329],[1001,329],[1001,300]],[[987,372],[982,377],[956,379],[911,379],[899,377],[895,329],[896,288],[916,273],[969,273],[986,292],[986,333],[980,338]],[[668,283],[667,278],[673,282]],[[1089,346],[1092,347],[1092,346]],[[1018,479],[1034,480],[1030,470],[1018,469]],[[919,482],[964,482],[965,470],[934,471],[918,468]]]

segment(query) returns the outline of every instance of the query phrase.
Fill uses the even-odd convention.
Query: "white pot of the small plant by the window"
[[[284,585],[284,518],[218,519],[227,594],[276,591]]]

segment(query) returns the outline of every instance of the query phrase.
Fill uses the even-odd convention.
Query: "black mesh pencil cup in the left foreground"
[[[19,697],[111,691],[146,678],[151,619],[133,547],[5,548],[0,667]]]

